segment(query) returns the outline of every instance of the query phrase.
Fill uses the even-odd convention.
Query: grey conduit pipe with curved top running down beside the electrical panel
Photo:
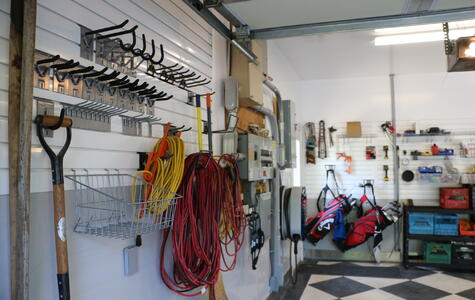
[[[274,113],[265,107],[253,106],[253,110],[263,113],[269,118],[272,132],[272,139],[276,144],[277,157],[280,158],[280,136],[278,130],[277,119]],[[280,159],[278,159],[278,164]],[[284,285],[284,271],[282,264],[282,248],[280,241],[280,167],[275,168],[274,177],[272,178],[272,203],[271,203],[271,237],[270,237],[270,259],[271,259],[271,278],[269,286],[272,292],[279,290]]]

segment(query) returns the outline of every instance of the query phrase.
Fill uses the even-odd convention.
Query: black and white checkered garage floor
[[[475,300],[475,273],[404,269],[396,264],[319,262],[299,268],[281,299]]]

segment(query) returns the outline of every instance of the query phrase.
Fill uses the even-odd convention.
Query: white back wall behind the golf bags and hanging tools
[[[347,193],[360,197],[356,188],[363,179],[375,179],[376,196],[379,203],[393,199],[393,184],[384,182],[382,165],[390,166],[392,160],[383,157],[382,146],[388,141],[380,131],[380,124],[391,119],[391,98],[389,74],[394,73],[396,113],[398,130],[403,131],[417,121],[422,128],[439,126],[452,131],[472,131],[475,126],[473,110],[473,82],[475,72],[447,73],[446,58],[442,42],[412,45],[375,47],[371,31],[353,31],[315,36],[275,40],[269,43],[269,51],[281,53],[281,57],[270,57],[269,66],[290,68],[296,74],[290,82],[295,91],[297,120],[306,122],[325,120],[327,127],[335,126],[336,134],[345,134],[347,121],[361,121],[362,139],[336,139],[336,146],[330,149],[329,158],[318,160],[316,165],[305,164],[305,149],[302,147],[302,185],[307,187],[309,215],[315,212],[315,199],[324,186],[325,164],[337,165],[337,176]],[[277,48],[278,50],[275,50]],[[283,60],[282,57],[286,58]],[[289,65],[290,62],[290,65]],[[280,65],[277,67],[276,65]],[[272,74],[271,74],[272,75]],[[449,139],[407,141],[399,139],[401,151],[414,149],[430,150],[431,143],[458,150],[460,141],[471,142],[474,136],[463,135]],[[302,135],[302,145],[305,145]],[[328,136],[327,136],[328,144]],[[364,150],[368,145],[377,147],[377,160],[366,161]],[[345,151],[353,156],[353,175],[344,174],[344,165],[336,160],[335,152]],[[390,153],[392,157],[392,153]],[[468,171],[475,160],[456,158],[454,166]],[[410,161],[407,167],[416,170],[420,165],[439,165],[435,162]],[[403,170],[405,168],[402,168]],[[438,184],[420,182],[401,183],[401,200],[412,198],[416,204],[438,203]],[[394,239],[392,229],[387,230],[384,249],[390,252]],[[308,250],[331,250],[319,252],[318,257],[370,259],[366,246],[340,254],[330,239]],[[315,252],[313,252],[315,253]],[[387,258],[389,259],[389,258]]]

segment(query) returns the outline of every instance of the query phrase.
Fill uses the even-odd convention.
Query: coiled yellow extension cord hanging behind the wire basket
[[[143,201],[147,202],[147,204],[142,208],[146,207],[147,212],[155,216],[162,214],[176,197],[176,192],[180,187],[185,167],[185,144],[183,140],[176,136],[168,136],[165,137],[165,139],[168,143],[166,156],[170,157],[165,159],[158,157],[152,161],[150,168],[152,169],[154,165],[157,166],[155,178],[149,181],[151,186],[149,184],[144,184],[143,186],[144,196],[148,193],[149,196],[144,197]],[[153,152],[159,152],[162,140],[163,138],[158,140],[153,148]],[[132,203],[134,204],[136,178],[144,174],[153,175],[151,170],[143,170],[135,174],[134,183],[132,185]],[[141,213],[140,215],[136,214],[137,217],[141,217],[143,214],[143,210],[140,210]]]

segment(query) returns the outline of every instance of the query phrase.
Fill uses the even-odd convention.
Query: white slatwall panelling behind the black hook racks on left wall
[[[5,18],[9,11],[9,3],[2,1],[0,6],[0,179],[8,177],[7,153],[7,84],[8,84],[8,25]],[[181,1],[178,1],[181,2]],[[151,39],[156,44],[162,43],[165,49],[165,63],[175,62],[184,64],[197,74],[211,78],[213,75],[212,30],[199,20],[194,12],[186,5],[176,1],[161,0],[40,0],[38,1],[37,38],[36,48],[51,54],[60,54],[68,59],[81,61],[83,64],[91,62],[79,57],[79,26],[91,29],[118,24],[124,19],[130,22],[127,28],[139,25],[139,36],[144,33],[150,47]],[[139,37],[138,36],[138,37]],[[140,43],[140,40],[138,40]],[[150,49],[150,48],[149,48]],[[139,74],[141,75],[141,74]],[[172,122],[179,126],[192,126],[193,130],[183,134],[186,143],[186,152],[198,151],[196,131],[196,108],[186,104],[186,92],[175,87],[150,79],[148,76],[138,78],[156,85],[158,89],[173,94],[174,98],[155,104],[156,115],[162,122]],[[211,83],[209,87],[213,86]],[[210,88],[204,91],[209,91]],[[61,97],[61,96],[59,96]],[[36,105],[35,105],[36,107]],[[55,106],[59,113],[60,105]],[[219,110],[215,114],[220,113]],[[220,116],[219,116],[220,117]],[[206,111],[202,110],[202,118],[206,120]],[[103,168],[120,168],[133,171],[137,168],[137,151],[150,151],[157,137],[162,135],[162,127],[153,126],[152,136],[130,137],[120,134],[121,120],[113,117],[112,133],[73,130],[71,147],[65,157],[65,173],[71,168],[91,169],[96,172]],[[214,123],[214,122],[213,122]],[[148,133],[147,124],[143,124],[143,132]],[[48,142],[54,146],[61,146],[64,141],[63,133],[56,133]],[[203,136],[204,147],[207,147],[207,137]],[[33,147],[40,145],[33,134]],[[49,178],[49,161],[43,152],[32,153],[32,172],[35,177]],[[7,181],[0,181],[0,194],[7,194]],[[32,183],[32,192],[50,190],[48,180],[35,180]]]

